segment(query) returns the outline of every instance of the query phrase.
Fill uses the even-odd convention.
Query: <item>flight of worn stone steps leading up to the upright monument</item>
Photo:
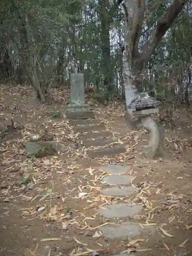
[[[98,123],[93,112],[69,112],[67,118],[69,119],[69,125],[74,127],[74,132],[79,133],[76,142],[85,146],[88,157],[111,157],[126,152],[125,146],[114,145],[117,138],[106,130],[104,124]]]

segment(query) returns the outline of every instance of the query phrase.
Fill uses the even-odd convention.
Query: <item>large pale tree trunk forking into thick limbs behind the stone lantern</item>
[[[125,10],[125,59],[124,59],[124,82],[126,105],[130,104],[135,93],[138,77],[143,75],[143,69],[151,58],[159,41],[166,31],[172,26],[174,20],[182,11],[188,0],[174,0],[167,8],[166,13],[153,28],[150,39],[141,47],[139,52],[138,44],[143,27],[144,14],[146,10],[145,0],[126,0]],[[128,109],[128,108],[127,108]],[[132,111],[129,110],[129,114]]]

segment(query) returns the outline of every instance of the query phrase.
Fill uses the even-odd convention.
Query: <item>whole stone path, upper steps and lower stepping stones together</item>
[[[85,146],[88,157],[109,157],[126,152],[125,146],[114,145],[113,142],[117,141],[117,139],[113,137],[110,131],[106,130],[105,125],[98,123],[90,112],[79,116],[77,113],[76,115],[68,113],[67,118],[69,119],[69,125],[74,127],[75,133],[79,133],[76,143]],[[109,146],[110,143],[113,144]],[[137,189],[131,184],[134,176],[128,175],[129,169],[113,164],[102,166],[100,169],[106,172],[106,176],[102,180],[101,193],[111,197],[126,197],[126,202],[111,203],[98,209],[98,213],[101,216],[106,218],[108,222],[114,223],[99,228],[103,236],[114,240],[137,236],[141,238],[154,234],[154,226],[145,226],[143,228],[136,222],[125,220],[139,215],[143,210],[141,204],[132,205],[131,202],[127,203],[128,199],[130,199],[129,197],[137,193]],[[130,256],[133,254],[115,254],[114,256],[118,255]]]

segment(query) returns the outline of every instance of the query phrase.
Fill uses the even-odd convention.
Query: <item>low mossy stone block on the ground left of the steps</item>
[[[67,146],[56,141],[36,141],[26,144],[26,155],[28,158],[33,156],[36,158],[52,156],[59,151],[66,152]]]

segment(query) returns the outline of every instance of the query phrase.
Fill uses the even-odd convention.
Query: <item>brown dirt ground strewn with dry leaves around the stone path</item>
[[[53,100],[40,105],[28,86],[0,86],[1,125],[12,122],[17,128],[12,127],[0,144],[0,255],[192,255],[192,110],[178,111],[172,122],[155,117],[165,125],[164,157],[159,159],[143,158],[149,135],[128,129],[118,102],[96,105],[95,111],[98,121],[121,135],[119,143],[128,148],[125,154],[89,159],[83,148],[69,148],[58,156],[28,159],[25,144],[31,134],[46,129],[67,145],[75,141],[63,110],[68,90],[56,90]],[[60,118],[54,118],[55,111]],[[135,176],[138,193],[131,199],[101,195],[105,173],[98,166],[110,163],[128,166]],[[142,215],[131,221],[152,225],[155,235],[134,241],[104,239],[97,227],[110,220],[99,216],[97,207],[114,200],[141,202]]]

